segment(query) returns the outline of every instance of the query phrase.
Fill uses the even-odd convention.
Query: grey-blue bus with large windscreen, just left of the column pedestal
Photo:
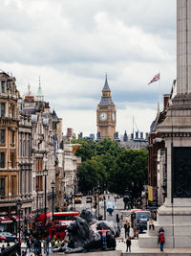
[[[150,211],[143,211],[140,209],[131,210],[132,228],[137,228],[140,231],[147,229],[147,221],[149,221],[150,218]]]

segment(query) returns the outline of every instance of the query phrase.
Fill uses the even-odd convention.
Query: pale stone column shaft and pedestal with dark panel
[[[140,236],[139,246],[191,248],[191,0],[177,1],[177,95],[157,132],[165,142],[167,197],[158,210],[156,230]]]

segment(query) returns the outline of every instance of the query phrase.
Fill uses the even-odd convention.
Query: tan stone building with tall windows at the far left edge
[[[8,73],[0,73],[0,228],[3,230],[11,230],[11,216],[16,214],[19,193],[19,92],[15,81]]]

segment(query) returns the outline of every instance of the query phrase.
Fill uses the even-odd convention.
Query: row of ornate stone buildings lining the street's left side
[[[0,229],[16,232],[17,200],[27,222],[61,208],[77,189],[74,145],[63,146],[62,119],[45,102],[39,81],[20,97],[15,78],[0,73]],[[77,146],[78,147],[78,146]],[[75,148],[76,149],[76,148]],[[47,171],[47,172],[45,172]],[[54,183],[54,195],[52,189]],[[54,209],[54,210],[55,210]]]

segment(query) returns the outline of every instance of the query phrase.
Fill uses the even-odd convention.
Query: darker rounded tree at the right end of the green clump
[[[118,154],[109,175],[109,190],[124,194],[125,189],[133,190],[138,197],[143,184],[147,181],[148,152],[146,150],[122,151]]]

